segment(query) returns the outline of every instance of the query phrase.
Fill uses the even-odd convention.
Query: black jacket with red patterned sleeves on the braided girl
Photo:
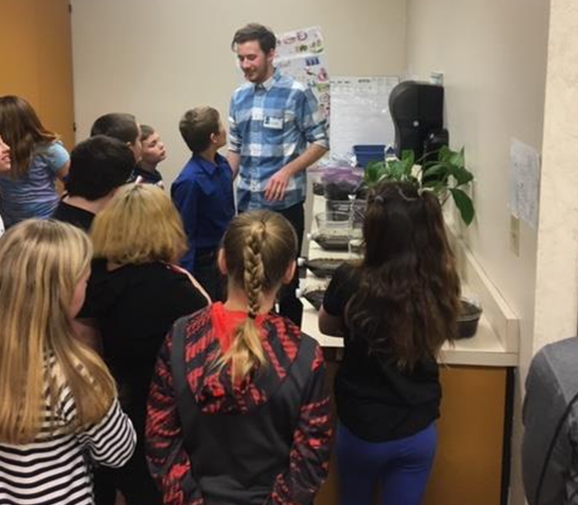
[[[191,454],[177,412],[174,336],[167,338],[153,377],[147,456],[164,503],[310,504],[327,476],[331,436],[321,349],[289,320],[263,316],[268,366],[233,385],[230,365],[215,366],[222,356],[211,317],[215,305],[185,325],[185,370],[195,410]],[[307,339],[312,352],[303,366],[300,350]]]

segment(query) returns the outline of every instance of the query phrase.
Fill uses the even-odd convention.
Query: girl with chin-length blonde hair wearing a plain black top
[[[104,359],[138,435],[135,454],[125,467],[97,475],[98,503],[114,504],[118,489],[129,505],[160,504],[144,454],[149,384],[173,322],[208,302],[194,279],[175,266],[186,250],[185,233],[160,188],[119,188],[96,216],[91,238],[95,259],[80,317],[91,319],[100,331]]]

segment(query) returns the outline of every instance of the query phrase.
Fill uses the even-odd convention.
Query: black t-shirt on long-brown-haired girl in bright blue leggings
[[[325,293],[325,311],[344,318],[345,306],[359,281],[355,267],[340,266]],[[439,417],[437,363],[418,363],[412,371],[403,371],[395,358],[370,354],[363,335],[347,331],[344,340],[335,399],[339,420],[352,433],[370,442],[396,440],[425,429]]]

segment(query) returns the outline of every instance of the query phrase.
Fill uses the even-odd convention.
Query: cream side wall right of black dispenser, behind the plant
[[[466,146],[476,177],[477,219],[465,239],[520,317],[512,504],[524,502],[520,399],[536,349],[538,232],[520,222],[519,256],[512,252],[509,146],[517,138],[539,152],[543,148],[549,8],[546,0],[408,0],[407,11],[409,74],[427,78],[431,71],[444,73],[451,144]]]

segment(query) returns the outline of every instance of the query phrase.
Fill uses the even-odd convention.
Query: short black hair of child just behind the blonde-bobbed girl
[[[134,169],[134,155],[126,143],[95,135],[70,153],[66,190],[70,196],[98,200],[126,183]]]

